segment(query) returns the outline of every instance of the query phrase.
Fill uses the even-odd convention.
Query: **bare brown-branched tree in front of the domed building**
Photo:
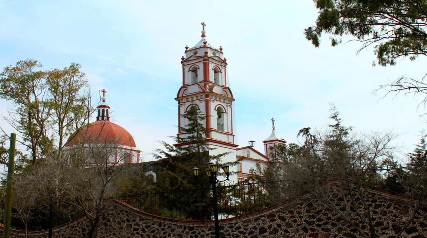
[[[91,137],[102,138],[95,134]],[[17,186],[29,186],[36,191],[30,189],[32,192],[28,193],[22,189],[18,197],[20,202],[37,198],[43,201],[44,210],[53,206],[53,210],[61,214],[85,216],[90,227],[86,235],[96,238],[101,216],[112,209],[114,200],[123,194],[126,189],[123,181],[135,167],[120,165],[129,159],[129,154],[118,143],[123,142],[121,138],[102,138],[96,143],[93,138],[81,139],[81,144],[41,160],[22,174]],[[22,207],[19,213],[25,218],[35,214],[28,207],[32,203],[23,206],[20,202],[17,202],[17,209]]]

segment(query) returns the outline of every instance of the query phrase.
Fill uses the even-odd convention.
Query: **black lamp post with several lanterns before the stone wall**
[[[216,197],[216,183],[224,182],[228,180],[228,177],[230,176],[230,167],[228,165],[223,165],[221,168],[225,172],[225,175],[227,175],[227,178],[225,180],[218,180],[217,171],[218,171],[218,165],[212,162],[206,163],[208,165],[208,168],[205,169],[206,176],[209,178],[209,182],[212,185],[212,195],[213,195],[213,218],[215,220],[215,238],[219,238],[219,223],[218,223],[218,201]],[[199,168],[194,167],[193,169],[194,176],[199,176]]]

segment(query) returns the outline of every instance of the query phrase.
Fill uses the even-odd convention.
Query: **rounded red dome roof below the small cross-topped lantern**
[[[131,134],[123,127],[107,120],[99,120],[82,126],[68,139],[66,145],[78,145],[81,143],[114,143],[136,147]]]

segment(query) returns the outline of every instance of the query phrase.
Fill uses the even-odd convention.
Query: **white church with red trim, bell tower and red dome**
[[[211,148],[215,150],[210,153],[221,154],[228,152],[222,157],[222,163],[235,162],[240,159],[240,164],[234,168],[230,167],[231,172],[236,172],[231,180],[245,180],[250,176],[249,170],[260,166],[259,173],[269,161],[269,158],[275,153],[275,145],[285,144],[284,139],[280,139],[275,131],[274,119],[272,119],[272,132],[264,141],[263,153],[253,148],[253,141],[249,146],[239,147],[234,141],[233,125],[233,102],[234,97],[231,89],[228,87],[227,78],[227,59],[223,56],[222,46],[216,48],[211,46],[206,40],[205,23],[202,24],[202,38],[193,47],[185,47],[181,58],[182,67],[182,85],[178,89],[175,100],[178,104],[178,143],[177,146],[184,144],[179,142],[179,138],[185,136],[179,128],[185,127],[188,121],[181,115],[190,107],[196,107],[205,115],[205,121],[202,122],[205,128],[210,131],[206,135],[206,141]],[[110,165],[121,165],[124,163],[143,163],[140,161],[140,150],[135,145],[132,136],[124,128],[109,121],[109,106],[105,103],[105,90],[102,90],[102,104],[98,106],[97,121],[86,125],[86,130],[80,130],[74,135],[75,139],[67,142],[67,148],[76,145],[78,139],[91,137],[94,140],[110,140],[119,143],[115,154],[107,160]],[[118,119],[120,121],[120,119]],[[71,163],[70,159],[70,163]]]

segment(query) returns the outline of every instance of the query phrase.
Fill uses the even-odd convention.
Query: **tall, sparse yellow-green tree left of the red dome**
[[[19,142],[30,151],[33,164],[39,157],[61,151],[64,139],[93,112],[91,90],[79,64],[62,70],[42,71],[42,67],[37,60],[27,59],[0,73],[0,99],[14,105],[3,119],[19,132]]]

